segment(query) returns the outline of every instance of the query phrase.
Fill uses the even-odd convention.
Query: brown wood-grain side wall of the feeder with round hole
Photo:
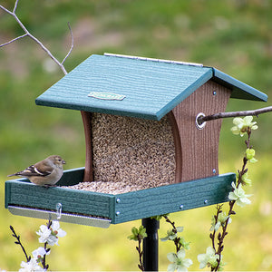
[[[219,135],[222,120],[209,121],[204,129],[199,130],[196,116],[199,112],[205,115],[225,112],[230,93],[227,88],[209,81],[172,110],[180,132],[182,152],[182,167],[177,169],[181,172],[181,180],[176,182],[219,174]]]

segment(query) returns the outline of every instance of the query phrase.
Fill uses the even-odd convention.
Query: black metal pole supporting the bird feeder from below
[[[147,238],[143,239],[143,267],[144,271],[158,271],[158,229],[160,222],[156,219],[141,219],[146,228]]]

